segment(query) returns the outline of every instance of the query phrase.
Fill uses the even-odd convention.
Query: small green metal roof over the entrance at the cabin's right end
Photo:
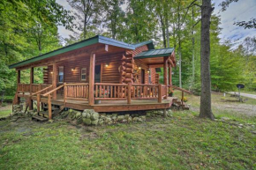
[[[151,58],[151,57],[160,57],[160,56],[169,56],[173,53],[174,48],[162,48],[162,49],[149,49],[143,51],[138,55],[135,55],[134,58]]]

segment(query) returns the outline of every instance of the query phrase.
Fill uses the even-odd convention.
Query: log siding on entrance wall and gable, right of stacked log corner
[[[141,46],[139,48],[136,48],[135,50],[127,50],[126,54],[130,55],[132,54],[134,55],[138,55],[139,53],[141,53],[142,51],[147,51],[147,45],[145,46]],[[147,66],[147,63],[142,62],[141,60],[135,60],[135,70],[138,70],[139,65],[141,66],[141,69],[145,70],[145,84],[148,84],[148,73],[147,70],[149,69],[149,67]],[[141,83],[141,74],[139,74],[139,81],[136,82],[135,84],[140,84]],[[151,82],[152,84],[155,84],[155,69],[151,69]]]

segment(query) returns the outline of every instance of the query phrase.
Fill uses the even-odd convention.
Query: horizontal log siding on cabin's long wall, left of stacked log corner
[[[118,67],[121,64],[121,58],[124,52],[107,53],[105,55],[97,55],[95,57],[95,65],[102,64],[102,83],[119,83],[120,73]],[[105,66],[105,63],[109,63],[109,67]],[[69,60],[64,60],[56,63],[57,74],[58,68],[64,66],[64,83],[88,83],[89,82],[89,70],[90,70],[90,57],[89,55],[72,57]],[[81,80],[81,69],[87,68],[87,80]],[[49,78],[48,84],[52,82],[52,66],[48,67]],[[74,69],[74,70],[72,70]],[[58,78],[56,79],[58,83]]]

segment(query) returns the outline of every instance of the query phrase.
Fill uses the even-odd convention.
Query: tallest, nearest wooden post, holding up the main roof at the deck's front
[[[92,52],[90,56],[90,72],[89,72],[89,105],[94,105],[94,68],[95,54]]]

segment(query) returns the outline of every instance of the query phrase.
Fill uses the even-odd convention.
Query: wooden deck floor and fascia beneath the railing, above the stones
[[[19,97],[28,98],[29,93],[18,94]],[[88,101],[85,100],[66,100],[65,107],[77,110],[94,109],[96,112],[119,112],[119,111],[136,111],[136,110],[152,110],[164,109],[171,107],[173,100],[176,98],[168,97],[158,103],[155,99],[149,100],[132,100],[131,104],[127,104],[126,100],[101,100],[100,104],[90,106]],[[36,100],[36,96],[32,96],[32,100]],[[41,98],[42,103],[48,103],[47,98]],[[62,95],[57,95],[56,100],[51,100],[53,105],[64,105]]]

